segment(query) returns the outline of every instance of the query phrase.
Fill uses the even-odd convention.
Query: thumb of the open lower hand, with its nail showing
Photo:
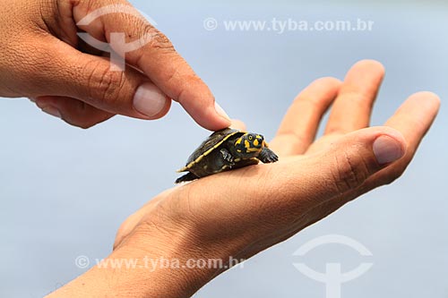
[[[323,184],[319,187],[321,194],[331,199],[356,191],[370,176],[402,158],[406,148],[401,132],[389,127],[372,127],[347,134],[333,143],[319,161],[323,177],[317,181],[327,182],[324,188]]]

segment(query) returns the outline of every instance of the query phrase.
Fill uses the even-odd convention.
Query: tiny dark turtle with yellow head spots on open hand
[[[252,166],[259,161],[274,163],[279,157],[268,148],[263,135],[226,128],[213,132],[188,158],[186,166],[177,171],[189,172],[178,178],[183,183],[243,166]]]

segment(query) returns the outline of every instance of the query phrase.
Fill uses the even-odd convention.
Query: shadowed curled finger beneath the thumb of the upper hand
[[[43,112],[83,129],[102,123],[114,116],[114,114],[90,106],[75,98],[40,97],[33,99],[33,101]]]

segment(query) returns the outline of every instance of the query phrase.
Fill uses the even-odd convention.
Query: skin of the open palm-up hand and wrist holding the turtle
[[[294,100],[270,143],[278,163],[211,175],[159,194],[123,223],[108,260],[248,259],[392,183],[409,165],[440,100],[416,93],[383,126],[369,127],[383,74],[383,65],[361,61],[343,82],[314,81]],[[330,106],[325,133],[315,139]],[[239,122],[234,127],[245,128]],[[400,153],[395,161],[380,163],[376,140],[392,141]],[[48,297],[189,297],[223,271],[94,266]]]

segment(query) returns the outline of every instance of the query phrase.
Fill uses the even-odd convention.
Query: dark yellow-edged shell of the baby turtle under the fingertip
[[[186,166],[178,170],[177,172],[186,172],[198,166],[203,158],[209,156],[215,149],[218,149],[226,140],[230,138],[239,138],[246,132],[237,131],[231,128],[226,128],[219,132],[213,132],[211,136],[202,142],[202,144],[194,150],[193,154],[188,158]],[[213,166],[213,165],[210,165]]]

